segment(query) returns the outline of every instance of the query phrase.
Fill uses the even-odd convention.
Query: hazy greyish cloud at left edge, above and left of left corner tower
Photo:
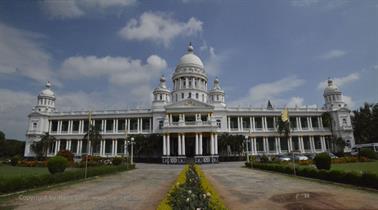
[[[52,79],[51,56],[39,43],[42,37],[0,23],[0,74],[24,76],[37,81]]]

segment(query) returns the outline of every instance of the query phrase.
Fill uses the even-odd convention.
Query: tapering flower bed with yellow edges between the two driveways
[[[158,206],[170,209],[226,209],[219,196],[197,165],[186,165],[176,184]]]

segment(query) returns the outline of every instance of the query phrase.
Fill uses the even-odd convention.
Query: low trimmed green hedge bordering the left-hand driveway
[[[88,168],[88,177],[111,174],[135,168],[133,166],[99,166]],[[56,174],[15,176],[11,178],[0,177],[0,194],[48,186],[52,184],[84,179],[84,169],[66,171]]]

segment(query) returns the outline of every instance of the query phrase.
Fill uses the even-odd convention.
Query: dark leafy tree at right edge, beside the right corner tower
[[[378,104],[365,103],[353,111],[353,133],[356,143],[378,141]]]

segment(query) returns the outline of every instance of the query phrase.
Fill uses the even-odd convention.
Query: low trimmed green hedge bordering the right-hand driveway
[[[251,167],[251,164],[247,163],[246,166]],[[293,174],[293,168],[288,165],[253,163],[253,168]],[[373,173],[327,171],[310,167],[298,167],[296,168],[296,174],[298,176],[378,189],[378,175]]]

